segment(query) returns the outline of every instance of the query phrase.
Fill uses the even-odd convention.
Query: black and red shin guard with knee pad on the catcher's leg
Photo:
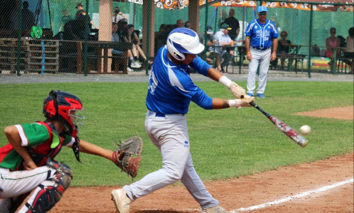
[[[32,205],[28,202],[25,204],[28,208],[27,213],[49,211],[55,203],[60,200],[73,179],[73,172],[65,163],[58,163],[49,158],[47,160],[47,166],[56,170],[53,177],[50,177],[51,171],[48,171],[47,181],[49,180],[53,182],[53,184],[46,184],[47,186],[40,184],[38,186],[41,189],[38,191],[37,195],[35,195]]]

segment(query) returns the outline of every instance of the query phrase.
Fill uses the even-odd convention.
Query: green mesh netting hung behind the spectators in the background
[[[37,3],[37,0],[28,0],[33,4]],[[42,28],[50,28],[49,12],[48,12],[48,1],[42,1],[41,6],[41,16],[39,21]],[[85,3],[84,9],[86,8]],[[76,13],[76,1],[69,0],[50,0],[50,12],[51,12],[51,22],[53,35],[56,35],[59,31],[63,31],[63,25],[75,19]],[[91,16],[93,22],[99,27],[98,23],[98,12],[99,12],[99,1],[89,0],[89,15]],[[135,19],[134,16],[134,5],[135,5]],[[142,14],[142,5],[133,4],[130,2],[113,2],[113,8],[119,6],[120,10],[129,17],[129,24],[133,24],[135,21],[135,29],[142,30],[142,19],[146,18]],[[33,6],[32,6],[33,8]],[[217,14],[213,17],[211,26],[215,27],[215,22],[217,25],[223,21],[223,19],[228,17],[228,11],[230,8],[235,10],[235,18],[239,21],[243,20],[242,11],[245,10],[244,19],[248,23],[257,18],[257,15],[253,15],[252,8],[243,7],[219,7]],[[215,7],[209,6],[208,8],[208,19],[207,24],[210,23]],[[33,11],[34,12],[34,11]],[[112,9],[113,13],[113,9]],[[220,19],[221,16],[221,19]],[[288,39],[294,44],[307,45],[308,35],[309,35],[309,23],[310,23],[310,11],[296,10],[290,8],[269,8],[268,19],[271,19],[278,28],[279,31],[285,30],[288,32]],[[188,7],[182,10],[163,10],[160,8],[155,8],[155,29],[158,31],[161,24],[176,24],[177,19],[183,19],[184,22],[188,21]],[[200,20],[200,31],[204,30],[205,24],[205,7],[200,9],[199,12]],[[337,29],[337,35],[342,35],[344,38],[348,36],[348,29],[354,25],[354,13],[353,12],[313,12],[313,44],[318,46],[325,46],[325,39],[329,36],[329,29],[335,27]],[[213,29],[215,30],[215,29]]]

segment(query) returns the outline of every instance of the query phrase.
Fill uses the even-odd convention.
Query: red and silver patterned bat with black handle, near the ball
[[[302,137],[299,133],[297,133],[295,131],[295,129],[291,128],[290,126],[288,126],[286,123],[282,122],[281,120],[277,119],[276,117],[269,115],[268,113],[266,113],[263,109],[261,109],[260,107],[258,107],[257,104],[255,104],[255,102],[251,102],[250,105],[256,109],[258,109],[261,113],[263,113],[265,116],[268,117],[268,119],[270,121],[272,121],[272,123],[278,127],[278,129],[280,129],[280,131],[284,132],[284,134],[286,134],[289,138],[291,138],[293,141],[295,141],[297,144],[299,144],[301,147],[305,147],[307,146],[307,139]]]

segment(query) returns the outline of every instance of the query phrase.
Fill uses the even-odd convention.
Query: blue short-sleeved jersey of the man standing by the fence
[[[278,38],[278,31],[272,21],[265,19],[262,24],[258,19],[251,21],[245,31],[246,36],[251,37],[250,45],[256,48],[269,48],[272,46],[272,39]]]

